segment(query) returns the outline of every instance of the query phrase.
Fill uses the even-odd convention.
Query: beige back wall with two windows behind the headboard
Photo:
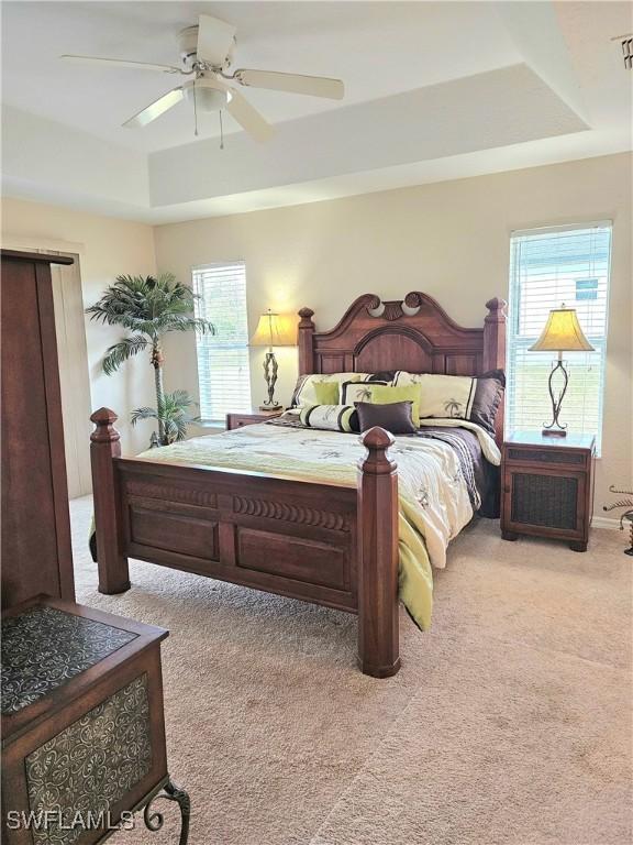
[[[465,326],[481,325],[484,304],[508,294],[513,229],[613,220],[603,456],[596,513],[608,485],[632,479],[631,163],[628,154],[438,183],[292,208],[196,220],[155,229],[159,270],[181,279],[190,267],[244,259],[252,329],[267,307],[315,310],[329,329],[358,294],[436,297]],[[169,347],[167,381],[197,394],[195,342]],[[253,398],[264,395],[253,355]],[[280,398],[296,377],[296,353],[280,360]]]

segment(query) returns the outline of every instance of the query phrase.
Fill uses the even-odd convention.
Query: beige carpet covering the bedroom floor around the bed
[[[96,591],[71,503],[78,601],[170,630],[169,768],[192,845],[628,845],[633,561],[475,523],[436,574],[433,630],[402,614],[400,673],[354,665],[353,616],[133,562]],[[157,834],[112,842],[175,843]]]

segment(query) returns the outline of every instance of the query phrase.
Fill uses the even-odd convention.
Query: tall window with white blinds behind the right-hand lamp
[[[569,386],[560,419],[568,430],[602,429],[611,223],[513,232],[508,325],[508,427],[540,430],[552,419],[547,378],[555,355],[529,352],[551,308],[576,308],[595,352],[564,352]]]

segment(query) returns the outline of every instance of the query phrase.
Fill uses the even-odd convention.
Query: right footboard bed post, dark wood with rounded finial
[[[393,442],[384,428],[370,428],[358,462],[358,666],[374,678],[400,669],[398,476],[386,454]]]

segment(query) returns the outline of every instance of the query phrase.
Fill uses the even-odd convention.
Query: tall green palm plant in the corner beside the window
[[[154,367],[156,407],[133,410],[132,425],[142,419],[156,419],[158,435],[152,436],[153,446],[167,446],[175,440],[182,440],[187,426],[196,419],[189,413],[196,405],[191,396],[186,391],[165,393],[163,386],[165,334],[170,331],[215,331],[209,320],[195,316],[196,298],[191,288],[177,282],[171,273],[164,273],[157,278],[118,276],[99,301],[86,309],[92,320],[121,326],[130,332],[119,343],[108,348],[102,362],[106,375],[115,373],[121,364],[140,352],[149,353],[149,362]]]

